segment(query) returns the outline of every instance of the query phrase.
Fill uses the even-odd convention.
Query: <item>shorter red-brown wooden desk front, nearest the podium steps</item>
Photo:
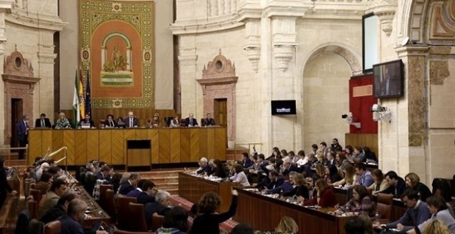
[[[236,185],[237,184],[232,182],[214,182],[179,172],[179,196],[190,202],[196,203],[199,202],[204,193],[217,193],[221,198],[219,212],[229,210],[232,200],[231,187]]]

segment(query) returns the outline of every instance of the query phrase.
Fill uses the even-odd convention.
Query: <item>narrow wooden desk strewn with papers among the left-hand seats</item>
[[[83,220],[82,225],[83,226],[88,226],[91,227],[93,226],[94,222],[97,221],[103,221],[106,224],[110,224],[110,216],[108,213],[106,213],[101,206],[97,202],[94,201],[91,195],[88,194],[83,187],[78,186],[74,188],[74,191],[78,193],[79,198],[81,200],[85,201],[85,203],[88,205],[88,209],[92,211],[91,213],[88,213],[90,215],[89,220]]]

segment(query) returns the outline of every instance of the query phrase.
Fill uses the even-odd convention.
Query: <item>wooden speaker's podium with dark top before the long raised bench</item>
[[[152,140],[126,140],[126,167],[151,167]]]

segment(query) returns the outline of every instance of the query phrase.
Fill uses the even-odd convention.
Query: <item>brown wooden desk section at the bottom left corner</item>
[[[16,226],[14,219],[17,216],[18,200],[19,195],[12,195],[11,193],[8,193],[5,204],[3,204],[0,210],[0,234],[14,232],[14,228]]]

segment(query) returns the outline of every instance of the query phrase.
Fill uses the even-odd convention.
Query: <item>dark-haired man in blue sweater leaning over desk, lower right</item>
[[[428,205],[419,199],[416,190],[406,189],[401,195],[401,200],[407,207],[406,212],[399,220],[386,224],[386,228],[397,228],[400,231],[409,231],[414,228],[414,226],[420,225],[431,217]],[[412,221],[412,226],[406,226],[408,220]]]

